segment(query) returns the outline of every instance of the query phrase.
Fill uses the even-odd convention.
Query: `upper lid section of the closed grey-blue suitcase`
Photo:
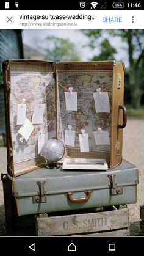
[[[39,194],[38,181],[44,181],[45,194],[98,190],[110,188],[109,175],[115,175],[115,186],[132,186],[139,183],[137,168],[123,162],[106,171],[64,171],[62,168],[48,170],[41,168],[12,180],[13,194],[16,197],[35,196]],[[12,177],[11,177],[12,178]]]

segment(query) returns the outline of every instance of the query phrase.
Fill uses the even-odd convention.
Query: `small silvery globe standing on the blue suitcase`
[[[59,161],[64,153],[65,147],[59,139],[48,139],[41,149],[41,155],[50,163]]]

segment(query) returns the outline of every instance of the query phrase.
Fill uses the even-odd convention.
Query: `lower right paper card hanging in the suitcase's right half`
[[[110,145],[108,131],[94,131],[96,145]]]

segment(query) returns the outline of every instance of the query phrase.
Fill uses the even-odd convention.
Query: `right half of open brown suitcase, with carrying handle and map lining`
[[[59,62],[56,64],[56,74],[59,95],[57,135],[63,139],[68,125],[76,131],[74,147],[65,145],[68,158],[106,159],[109,168],[120,164],[123,128],[126,126],[126,108],[123,106],[124,64],[115,61]],[[77,111],[67,111],[64,107],[64,93],[68,87],[73,87],[73,91],[77,92]],[[98,106],[95,106],[93,94],[99,94],[98,89],[99,98],[107,93],[109,103],[100,100],[98,103],[102,103],[101,109],[96,111]],[[109,145],[104,144],[103,139],[102,145],[96,145],[93,131],[98,131],[98,128],[109,134]],[[86,152],[81,152],[79,147],[81,129],[88,133],[89,150]]]

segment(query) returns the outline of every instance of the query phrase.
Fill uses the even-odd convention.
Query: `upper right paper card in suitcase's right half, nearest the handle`
[[[94,92],[96,113],[110,113],[108,92]]]

